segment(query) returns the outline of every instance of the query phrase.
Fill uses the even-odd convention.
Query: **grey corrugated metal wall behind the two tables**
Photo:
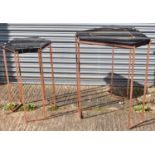
[[[101,27],[104,24],[0,24],[0,41],[13,38],[40,36],[53,42],[55,80],[57,84],[75,84],[75,33],[81,30]],[[117,24],[111,24],[117,25]],[[119,24],[135,26],[152,39],[149,85],[155,81],[155,23],[154,24]],[[122,84],[127,78],[129,50],[117,49],[115,52],[115,81]],[[7,54],[9,76],[16,82],[15,64],[11,54]],[[145,74],[146,47],[136,52],[135,83],[142,84]],[[44,50],[44,73],[46,82],[50,82],[49,51]],[[39,82],[37,54],[21,54],[20,62],[23,81]],[[105,85],[111,73],[111,48],[81,45],[81,79],[85,85]],[[0,82],[4,83],[4,65],[0,52]]]

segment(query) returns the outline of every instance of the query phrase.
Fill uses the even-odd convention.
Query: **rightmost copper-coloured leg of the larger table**
[[[151,42],[148,44],[148,47],[147,47],[147,58],[146,58],[145,80],[144,80],[144,95],[143,95],[143,106],[142,106],[142,121],[144,120],[144,107],[145,107],[147,81],[148,81],[148,67],[149,67],[149,60],[150,60],[150,47],[151,47]]]

